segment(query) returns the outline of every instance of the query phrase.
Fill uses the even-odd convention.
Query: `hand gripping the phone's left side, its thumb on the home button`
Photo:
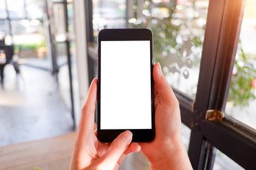
[[[94,128],[95,103],[97,100],[97,79],[92,81],[75,139],[71,169],[118,169],[127,154],[139,152],[140,146],[131,143],[132,132],[122,132],[112,144],[97,140]]]

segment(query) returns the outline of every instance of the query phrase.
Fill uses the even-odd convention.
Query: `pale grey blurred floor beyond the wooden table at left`
[[[73,130],[73,121],[50,72],[21,65],[16,77],[5,68],[0,87],[0,146],[62,135]]]

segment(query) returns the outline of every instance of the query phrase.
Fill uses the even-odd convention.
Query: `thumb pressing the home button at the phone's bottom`
[[[122,132],[110,145],[110,148],[105,154],[104,162],[102,162],[103,167],[110,167],[114,169],[119,158],[125,152],[129,144],[132,142],[132,132],[126,130]]]

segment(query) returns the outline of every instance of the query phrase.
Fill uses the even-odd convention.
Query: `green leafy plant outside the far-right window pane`
[[[239,40],[228,101],[232,101],[233,106],[240,106],[240,108],[249,106],[249,101],[256,99],[255,82],[255,67],[248,62],[245,52],[242,50],[241,40]]]

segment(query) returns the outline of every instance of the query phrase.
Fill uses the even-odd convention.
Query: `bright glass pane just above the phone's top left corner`
[[[125,0],[94,0],[92,1],[93,35],[103,28],[125,28]]]

